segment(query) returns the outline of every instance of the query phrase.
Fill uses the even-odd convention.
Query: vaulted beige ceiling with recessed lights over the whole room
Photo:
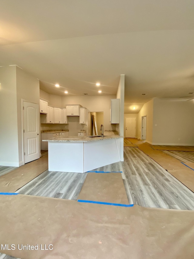
[[[125,74],[125,113],[193,96],[193,43],[192,0],[0,2],[0,66],[18,65],[57,95],[116,94]]]

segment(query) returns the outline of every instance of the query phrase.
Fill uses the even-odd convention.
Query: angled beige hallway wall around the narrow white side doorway
[[[143,105],[138,113],[138,135],[137,137],[141,139],[141,123],[142,116],[147,116],[146,122],[146,142],[152,143],[152,133],[153,133],[153,99]]]

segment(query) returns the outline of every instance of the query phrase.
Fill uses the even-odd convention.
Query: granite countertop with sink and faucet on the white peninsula
[[[45,139],[42,141],[55,141],[55,142],[88,142],[88,141],[102,141],[102,140],[107,140],[107,139],[114,139],[114,138],[123,138],[122,136],[105,136],[105,137],[95,137],[95,138],[90,138],[89,136],[83,136],[83,137],[53,137],[49,139]]]

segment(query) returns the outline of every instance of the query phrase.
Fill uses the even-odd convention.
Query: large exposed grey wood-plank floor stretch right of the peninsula
[[[123,167],[134,204],[194,210],[194,193],[139,148],[124,148]]]

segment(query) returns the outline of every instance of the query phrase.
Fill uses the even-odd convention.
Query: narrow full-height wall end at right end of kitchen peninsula
[[[124,136],[125,75],[120,76],[120,81],[119,81],[116,98],[120,99],[120,119],[119,119],[119,124],[116,125],[116,130],[120,133],[120,136]],[[121,143],[120,143],[121,161],[124,161],[123,147],[124,147],[124,139],[122,138]]]

